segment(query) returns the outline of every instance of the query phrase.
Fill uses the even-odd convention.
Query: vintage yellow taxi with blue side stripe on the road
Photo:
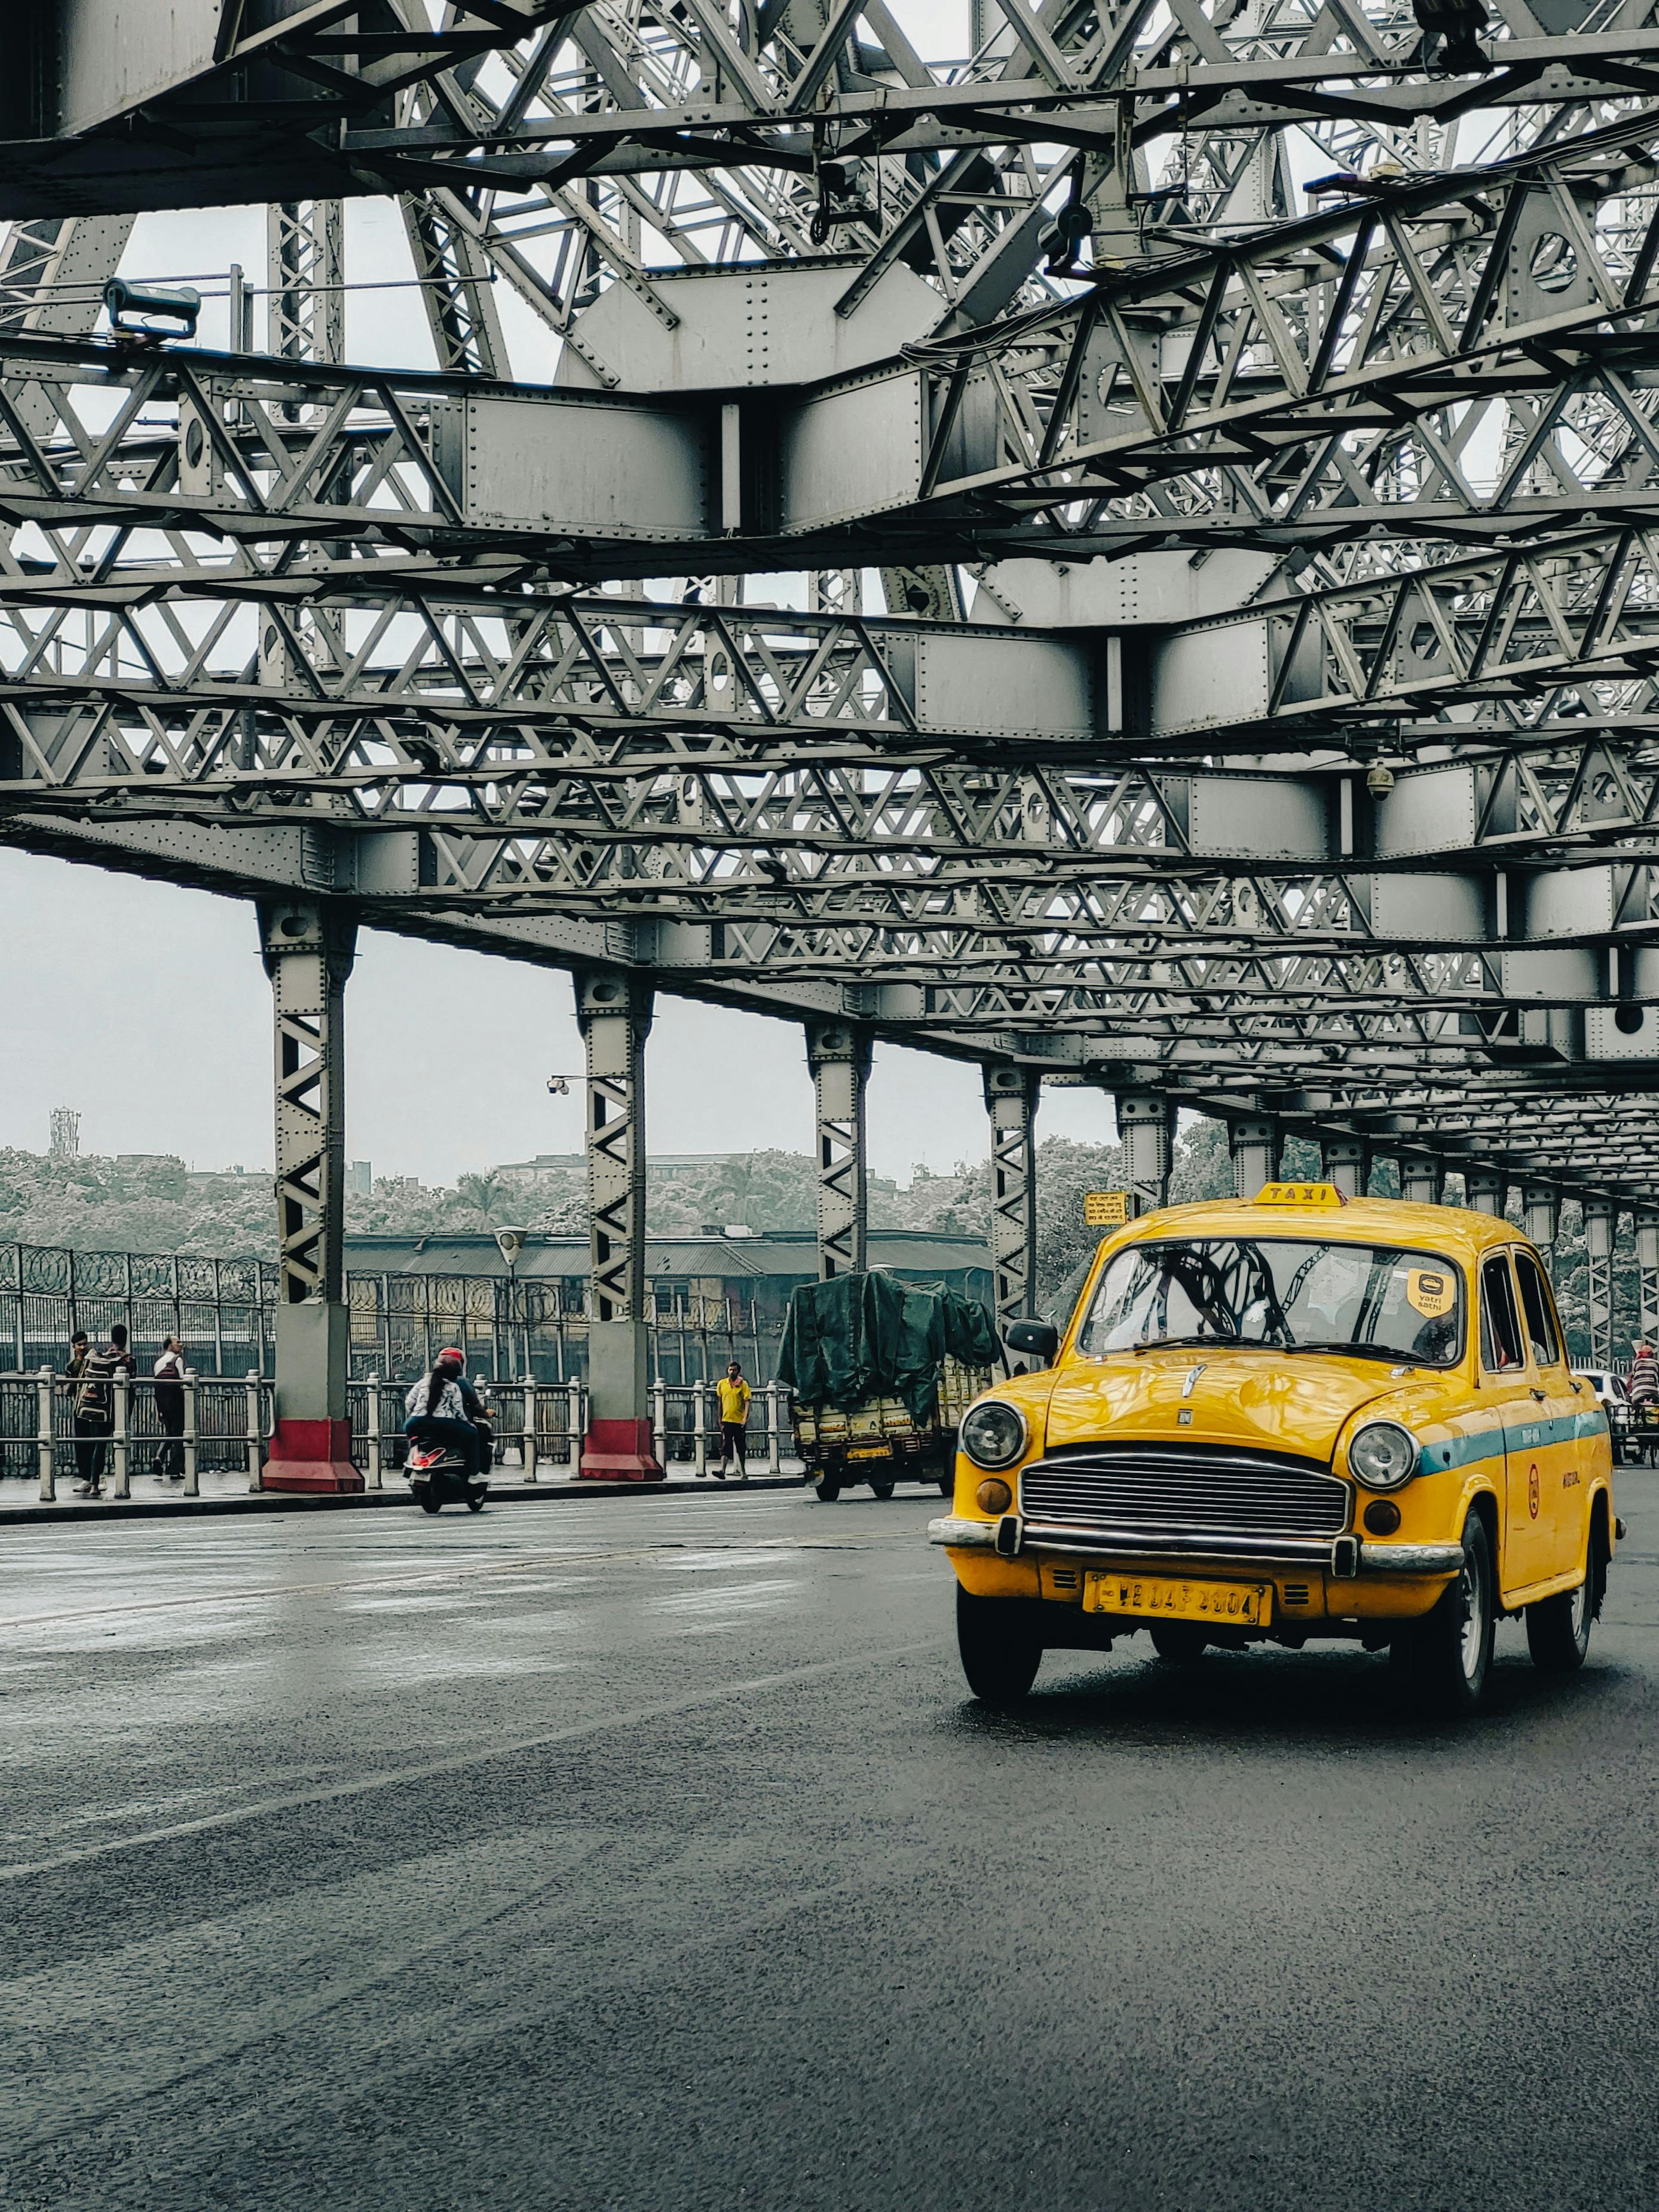
[[[1177,1663],[1387,1646],[1453,1712],[1500,1615],[1584,1663],[1624,1535],[1608,1420],[1509,1221],[1332,1183],[1168,1206],[1102,1243],[1064,1332],[1006,1340],[1048,1365],[969,1407],[929,1528],[987,1703],[1141,1628]]]

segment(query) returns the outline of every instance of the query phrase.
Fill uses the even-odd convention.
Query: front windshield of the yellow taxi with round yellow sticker
[[[1462,1276],[1438,1252],[1303,1237],[1159,1237],[1099,1279],[1077,1349],[1276,1345],[1451,1367]]]

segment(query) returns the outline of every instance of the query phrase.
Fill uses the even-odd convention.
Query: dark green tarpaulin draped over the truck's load
[[[891,1274],[838,1274],[803,1283],[783,1321],[779,1380],[801,1405],[852,1413],[869,1398],[902,1398],[914,1422],[938,1411],[945,1356],[991,1367],[991,1316],[953,1290],[918,1290]]]

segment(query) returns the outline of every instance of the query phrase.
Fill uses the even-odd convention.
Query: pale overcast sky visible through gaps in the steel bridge
[[[911,4],[914,35],[960,49],[960,7]],[[960,20],[958,20],[960,18]],[[931,35],[929,35],[931,33]],[[197,279],[210,294],[201,338],[226,341],[223,272],[263,283],[265,210],[150,215],[124,268]],[[347,201],[347,279],[407,279],[389,201]],[[520,374],[551,374],[542,327],[500,288]],[[257,343],[263,341],[263,327]],[[538,356],[546,352],[546,361]],[[347,356],[429,363],[411,292],[354,292]],[[95,867],[0,852],[0,929],[11,953],[0,1035],[0,1144],[44,1150],[53,1106],[82,1113],[86,1152],[181,1152],[197,1166],[270,1166],[270,991],[252,909],[237,900]],[[453,1042],[469,1035],[469,1064]],[[580,1091],[549,1075],[582,1068],[566,975],[365,933],[347,998],[347,1148],[376,1175],[451,1183],[469,1168],[577,1150]],[[657,1152],[812,1148],[812,1082],[801,1029],[659,1000],[646,1082]],[[1106,1139],[1097,1093],[1048,1093],[1042,1128]],[[916,1161],[947,1170],[987,1146],[980,1077],[929,1053],[880,1048],[869,1086],[878,1175]]]

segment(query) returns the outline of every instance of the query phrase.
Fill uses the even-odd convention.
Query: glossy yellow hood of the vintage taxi
[[[1190,1380],[1188,1380],[1190,1378]],[[1360,1407],[1413,1398],[1418,1376],[1323,1352],[1144,1352],[1055,1374],[1046,1449],[1168,1438],[1327,1460]],[[1190,1420],[1181,1420],[1190,1413]]]

